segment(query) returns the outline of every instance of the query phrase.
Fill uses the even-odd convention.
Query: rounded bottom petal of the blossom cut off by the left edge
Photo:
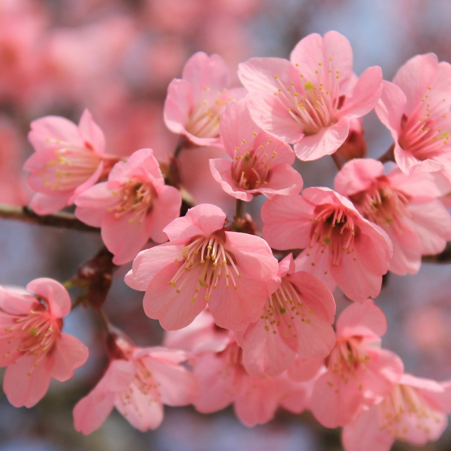
[[[9,365],[3,379],[3,391],[14,407],[32,407],[46,394],[50,374],[45,360],[34,366],[35,355],[24,355]]]

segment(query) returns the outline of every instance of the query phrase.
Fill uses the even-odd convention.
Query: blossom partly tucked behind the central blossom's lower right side
[[[324,283],[295,270],[292,254],[279,263],[269,297],[257,322],[235,332],[243,365],[253,376],[277,376],[297,354],[323,359],[335,344],[335,302]]]

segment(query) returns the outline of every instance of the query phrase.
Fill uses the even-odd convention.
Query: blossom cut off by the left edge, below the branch
[[[85,364],[88,350],[61,332],[70,312],[67,290],[52,279],[35,279],[27,290],[37,297],[0,287],[0,366],[3,390],[15,407],[32,407],[46,394],[50,379],[64,382]]]

